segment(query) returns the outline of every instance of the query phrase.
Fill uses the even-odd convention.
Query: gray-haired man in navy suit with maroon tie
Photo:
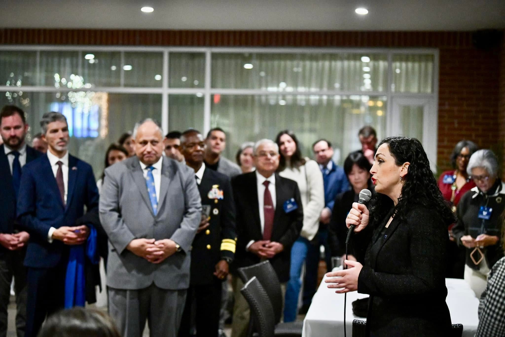
[[[30,233],[24,265],[28,299],[26,337],[35,337],[46,315],[64,307],[70,247],[85,244],[87,226],[76,226],[84,206],[98,206],[91,166],[70,156],[65,116],[48,112],[40,121],[47,154],[23,168],[18,220]]]

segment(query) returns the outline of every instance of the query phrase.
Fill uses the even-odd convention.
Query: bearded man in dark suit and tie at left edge
[[[26,269],[23,260],[30,235],[16,222],[16,200],[19,194],[21,168],[42,154],[25,143],[28,124],[25,113],[16,106],[5,106],[0,112],[0,336],[7,334],[7,306],[14,277],[16,293],[16,331],[25,332]]]

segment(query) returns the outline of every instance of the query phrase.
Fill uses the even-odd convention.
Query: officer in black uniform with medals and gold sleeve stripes
[[[189,336],[191,304],[196,305],[196,335],[215,336],[219,330],[221,283],[228,276],[236,247],[235,206],[230,179],[205,166],[205,139],[190,129],[181,136],[181,154],[195,172],[203,219],[191,250],[190,286],[179,336]],[[210,211],[206,214],[205,209]]]

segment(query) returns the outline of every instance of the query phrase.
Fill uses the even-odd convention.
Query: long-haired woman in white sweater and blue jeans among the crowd
[[[298,139],[292,131],[279,132],[275,142],[280,150],[277,171],[280,176],[296,181],[304,209],[304,225],[300,237],[291,247],[289,281],[286,284],[284,321],[292,322],[298,313],[301,267],[307,258],[310,242],[319,229],[319,216],[324,208],[324,184],[318,163],[301,156]]]

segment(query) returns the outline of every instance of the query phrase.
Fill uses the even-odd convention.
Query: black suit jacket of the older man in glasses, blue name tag
[[[237,268],[251,266],[260,262],[260,257],[247,252],[245,247],[250,240],[263,239],[261,232],[260,211],[258,205],[258,187],[256,172],[240,174],[231,181],[237,213],[237,251],[232,272]],[[304,220],[298,184],[291,179],[275,174],[276,207],[272,241],[284,246],[284,250],[270,259],[280,282],[289,280],[291,246],[299,237]],[[298,208],[289,213],[284,212],[284,202],[294,198]]]

